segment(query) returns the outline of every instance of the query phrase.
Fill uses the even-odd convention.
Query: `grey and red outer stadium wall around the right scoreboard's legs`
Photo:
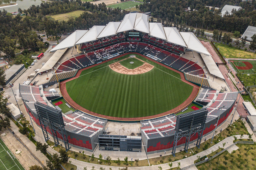
[[[234,108],[234,104],[235,104],[235,101],[232,103],[230,108],[228,108],[226,111],[224,111],[220,115],[218,126],[222,125],[225,122],[225,120],[228,118],[228,116],[230,115],[230,113]],[[209,135],[214,131],[216,123],[217,123],[217,119],[215,118],[206,122],[204,131],[203,131],[202,141],[206,135]],[[154,139],[147,139],[144,133],[141,133],[141,135],[142,135],[143,145],[145,145],[144,148],[147,154],[164,152],[164,150],[166,151],[172,150],[173,143],[174,143],[174,135],[167,136],[167,137],[154,138]],[[198,134],[191,136],[191,140],[189,144],[196,142],[197,138],[198,138]],[[185,137],[183,137],[183,139],[180,139],[177,143],[177,148],[182,146],[185,146]]]

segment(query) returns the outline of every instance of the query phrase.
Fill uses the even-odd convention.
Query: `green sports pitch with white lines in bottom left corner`
[[[13,153],[0,139],[0,169],[1,170],[25,170]]]

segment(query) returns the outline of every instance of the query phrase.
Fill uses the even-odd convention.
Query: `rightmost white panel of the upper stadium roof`
[[[212,56],[208,52],[208,50],[205,48],[205,46],[203,46],[203,44],[199,41],[199,39],[197,39],[194,33],[189,33],[189,32],[179,32],[179,33],[182,36],[185,43],[187,44],[187,48],[199,53],[203,53],[207,56]]]

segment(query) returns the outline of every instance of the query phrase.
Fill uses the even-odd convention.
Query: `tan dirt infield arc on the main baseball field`
[[[136,57],[135,57],[136,58]],[[138,59],[138,58],[136,58]],[[125,60],[125,59],[123,59]],[[121,61],[123,61],[121,60]],[[142,61],[141,59],[138,59],[140,61]],[[144,62],[144,61],[143,61]],[[117,73],[121,73],[121,74],[127,74],[127,75],[137,75],[137,74],[143,74],[143,73],[146,73],[150,70],[152,70],[154,68],[153,65],[151,64],[148,64],[148,63],[145,63],[135,69],[127,69],[126,67],[122,66],[119,61],[118,62],[115,62],[113,64],[110,64],[109,67],[117,72]]]

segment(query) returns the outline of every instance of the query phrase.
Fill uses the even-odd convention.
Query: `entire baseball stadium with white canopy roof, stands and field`
[[[57,64],[71,47],[77,54]],[[57,64],[48,84],[58,83],[60,93],[46,91],[44,85],[20,84],[19,91],[45,139],[49,134],[56,144],[64,141],[66,149],[72,144],[93,152],[99,143],[101,150],[138,152],[142,145],[147,154],[171,150],[175,140],[176,146],[187,140],[175,139],[177,115],[186,113],[191,104],[201,109],[191,107],[189,114],[206,113],[201,135],[191,133],[188,139],[192,143],[228,118],[238,95],[219,92],[210,84],[208,72],[225,78],[193,33],[150,23],[141,13],[77,30],[50,50],[54,51],[38,73]],[[204,66],[184,58],[186,53],[198,56]],[[75,111],[61,112],[53,102],[62,97]],[[140,134],[109,135],[108,122],[140,122]]]

